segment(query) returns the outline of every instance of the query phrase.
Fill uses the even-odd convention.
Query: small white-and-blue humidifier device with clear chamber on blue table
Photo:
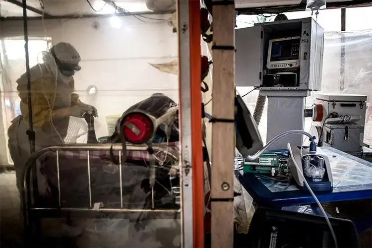
[[[299,168],[295,165],[294,160]],[[289,154],[288,166],[299,188],[306,189],[301,176],[303,174],[313,191],[331,191],[333,189],[329,159],[321,148],[316,147],[316,152],[310,153],[309,148],[303,147],[301,156],[301,147],[293,147],[292,154]]]

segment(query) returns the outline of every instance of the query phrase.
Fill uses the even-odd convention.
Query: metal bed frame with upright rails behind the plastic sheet
[[[146,145],[129,145],[127,144],[127,151],[146,151],[148,147]],[[154,144],[152,146],[154,151],[164,150],[164,146],[160,147]],[[121,207],[120,208],[101,208],[97,206],[92,207],[92,191],[91,191],[91,181],[90,181],[90,158],[89,152],[90,151],[109,151],[112,149],[113,151],[119,151],[119,171],[120,171],[120,199],[121,199]],[[21,208],[23,210],[23,223],[24,223],[24,232],[25,232],[25,239],[33,239],[34,230],[36,231],[36,238],[40,237],[41,233],[41,219],[42,218],[68,218],[71,213],[76,213],[77,218],[104,218],[103,216],[108,215],[119,215],[121,214],[121,218],[125,219],[125,216],[128,216],[132,213],[146,213],[147,218],[153,218],[156,215],[162,214],[162,216],[169,216],[170,218],[178,218],[180,217],[181,212],[181,204],[180,208],[178,209],[155,209],[154,208],[154,191],[151,190],[151,200],[152,200],[152,207],[151,209],[131,209],[131,208],[123,208],[123,181],[122,181],[122,145],[121,144],[95,144],[95,145],[62,145],[62,146],[51,146],[47,148],[40,149],[34,152],[28,161],[26,162],[25,171],[22,175],[22,199],[23,203],[21,202]],[[43,155],[45,152],[56,152],[56,159],[57,159],[57,182],[58,182],[58,207],[36,207],[35,201],[37,201],[39,197],[38,193],[38,186],[37,186],[37,176],[36,176],[36,161],[37,159]],[[59,162],[59,153],[61,151],[86,151],[87,153],[87,171],[88,171],[88,184],[89,184],[89,205],[90,208],[75,208],[75,207],[62,207],[61,204],[61,185],[60,185],[60,162]],[[173,161],[179,161],[179,157],[167,151],[167,156],[171,158]],[[178,169],[179,174],[179,169]],[[32,178],[32,190],[31,190],[31,181]],[[181,182],[180,182],[181,185]],[[180,187],[175,186],[172,187],[172,192],[175,193],[176,203],[181,202],[180,198]],[[32,197],[33,195],[33,197]],[[32,202],[32,199],[34,202]],[[35,206],[36,205],[36,206]],[[75,217],[75,215],[74,215]],[[112,217],[110,217],[112,218]]]

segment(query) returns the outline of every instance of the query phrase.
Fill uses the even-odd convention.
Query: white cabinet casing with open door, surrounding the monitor
[[[297,87],[261,87],[260,90],[320,90],[324,31],[311,17],[258,23],[253,27],[237,29],[236,85],[262,86],[267,72],[269,40],[274,33],[283,38],[301,36],[300,84]]]

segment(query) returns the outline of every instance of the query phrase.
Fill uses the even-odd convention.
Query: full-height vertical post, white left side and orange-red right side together
[[[178,0],[182,247],[204,247],[200,2]]]

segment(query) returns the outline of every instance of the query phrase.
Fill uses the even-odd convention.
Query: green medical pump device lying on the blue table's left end
[[[272,168],[277,172],[279,170],[279,157],[274,153],[263,153],[254,161],[244,159],[244,173],[271,174]]]

